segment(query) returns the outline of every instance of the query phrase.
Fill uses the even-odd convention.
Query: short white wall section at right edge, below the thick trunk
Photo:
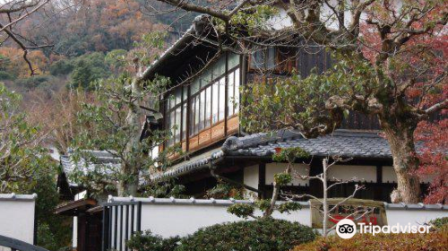
[[[386,210],[387,224],[418,226],[436,218],[448,217],[448,211],[431,210]]]

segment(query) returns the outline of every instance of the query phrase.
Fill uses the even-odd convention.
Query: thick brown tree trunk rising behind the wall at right
[[[380,123],[382,122],[380,119]],[[383,126],[383,132],[391,146],[393,169],[397,176],[397,188],[391,195],[392,203],[420,201],[420,183],[415,174],[418,169],[418,157],[415,151],[414,131],[413,125]]]

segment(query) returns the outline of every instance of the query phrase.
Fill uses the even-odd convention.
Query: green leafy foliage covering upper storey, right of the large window
[[[349,71],[349,65],[356,67]],[[344,110],[329,112],[325,107],[328,99],[372,95],[374,74],[368,63],[340,58],[332,71],[325,74],[310,74],[306,78],[293,74],[269,83],[249,83],[242,91],[241,123],[248,132],[270,132],[286,127],[310,136],[321,134],[316,128],[328,128],[331,132],[339,125]],[[356,109],[362,111],[361,107]]]

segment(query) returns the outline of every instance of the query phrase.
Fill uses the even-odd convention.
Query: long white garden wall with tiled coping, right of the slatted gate
[[[154,199],[112,197],[110,202],[142,202],[142,230],[151,230],[162,237],[186,236],[197,229],[214,224],[243,221],[227,212],[233,203],[252,203],[235,200],[194,200],[194,199]],[[302,203],[303,209],[297,212],[275,212],[273,217],[287,221],[297,221],[311,226],[309,203]],[[385,203],[388,225],[420,225],[435,218],[448,216],[448,205],[391,204]],[[255,214],[260,215],[257,211]],[[118,219],[119,221],[119,219]],[[118,227],[121,229],[121,227]]]

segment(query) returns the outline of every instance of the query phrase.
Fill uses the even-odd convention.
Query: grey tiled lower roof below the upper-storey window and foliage
[[[302,134],[280,130],[273,134],[251,134],[244,137],[231,136],[223,143],[221,150],[210,156],[190,160],[154,176],[178,177],[199,169],[206,169],[213,160],[223,156],[269,157],[275,148],[300,147],[314,156],[340,156],[356,159],[392,160],[389,143],[375,132],[337,130],[332,135],[306,139]]]

